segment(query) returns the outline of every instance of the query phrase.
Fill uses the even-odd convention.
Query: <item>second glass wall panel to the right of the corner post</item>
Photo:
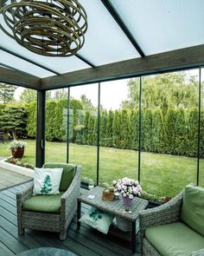
[[[70,89],[69,159],[82,166],[82,181],[97,180],[98,84]]]

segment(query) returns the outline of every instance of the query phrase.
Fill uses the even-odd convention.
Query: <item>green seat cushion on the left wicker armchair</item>
[[[38,194],[25,200],[22,205],[24,211],[40,213],[60,213],[61,195],[60,194]]]

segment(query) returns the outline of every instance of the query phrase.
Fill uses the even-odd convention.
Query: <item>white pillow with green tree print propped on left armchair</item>
[[[33,195],[59,194],[63,168],[35,168]]]

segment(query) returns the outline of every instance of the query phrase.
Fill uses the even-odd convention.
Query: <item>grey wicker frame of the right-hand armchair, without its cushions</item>
[[[140,239],[141,239],[141,254],[145,256],[160,256],[161,254],[156,251],[145,238],[145,230],[150,226],[159,226],[164,224],[173,223],[180,220],[180,212],[182,207],[183,192],[175,196],[174,199],[169,200],[163,206],[155,207],[152,209],[143,210],[139,213],[140,225]],[[204,247],[204,246],[203,246]],[[204,248],[188,256],[203,256]]]

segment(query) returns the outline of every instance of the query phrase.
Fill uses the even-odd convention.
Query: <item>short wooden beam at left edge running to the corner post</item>
[[[0,67],[0,82],[10,83],[29,89],[39,89],[40,78],[35,75],[22,74],[22,72]]]

